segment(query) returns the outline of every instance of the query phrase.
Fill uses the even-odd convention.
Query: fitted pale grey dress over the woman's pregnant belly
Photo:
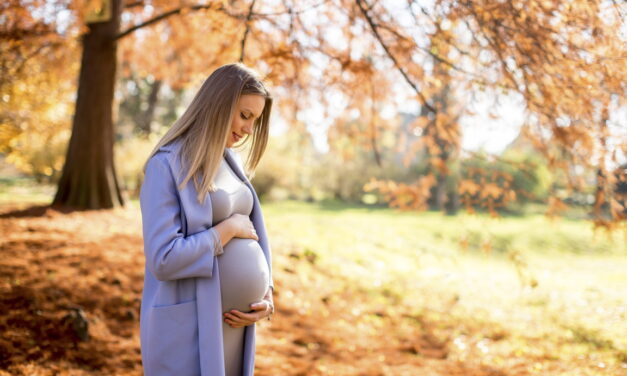
[[[250,189],[240,180],[224,158],[214,180],[217,190],[210,192],[212,226],[234,213],[249,216],[253,208]],[[222,312],[237,309],[249,312],[250,304],[263,299],[269,286],[269,270],[263,250],[255,239],[233,238],[218,256]],[[254,325],[254,324],[253,324]],[[232,328],[222,321],[226,376],[242,374],[244,328]]]

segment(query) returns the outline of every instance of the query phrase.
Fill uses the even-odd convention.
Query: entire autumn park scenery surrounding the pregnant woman
[[[257,374],[627,372],[626,14],[3,2],[0,374],[142,373],[143,163],[234,61],[275,101]]]

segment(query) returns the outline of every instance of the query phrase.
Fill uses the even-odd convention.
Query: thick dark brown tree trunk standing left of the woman
[[[121,0],[111,19],[89,24],[83,37],[72,137],[54,206],[104,209],[124,205],[113,161],[113,90]]]

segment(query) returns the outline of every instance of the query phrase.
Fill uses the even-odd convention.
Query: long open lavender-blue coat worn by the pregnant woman
[[[139,202],[146,267],[140,314],[140,341],[147,376],[223,376],[220,271],[214,249],[220,241],[212,225],[211,198],[202,205],[193,181],[182,190],[180,139],[148,161]],[[253,193],[250,219],[270,270],[271,250],[259,198],[226,148],[225,159]],[[243,374],[255,365],[255,325],[245,328]]]

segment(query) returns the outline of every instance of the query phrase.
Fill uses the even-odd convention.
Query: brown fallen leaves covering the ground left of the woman
[[[141,372],[137,213],[7,209],[0,219],[7,235],[0,244],[0,367],[11,374]]]

